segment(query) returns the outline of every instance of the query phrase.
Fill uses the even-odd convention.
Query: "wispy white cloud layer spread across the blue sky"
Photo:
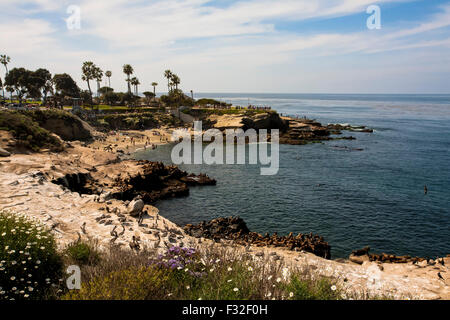
[[[400,0],[377,1],[383,2]],[[20,7],[16,3],[0,0],[2,8],[7,8],[4,12],[25,17],[20,21],[0,14],[4,16],[0,20],[2,47],[7,48],[14,63],[29,68],[46,64],[51,71],[71,73],[79,81],[82,61],[93,60],[113,71],[113,84],[118,90],[125,87],[121,71],[125,63],[135,66],[144,84],[154,80],[163,84],[163,70],[173,68],[187,89],[263,91],[279,83],[279,90],[284,91],[288,86],[280,81],[295,77],[287,73],[300,70],[302,61],[313,61],[311,67],[316,68],[314,72],[308,66],[309,73],[302,72],[298,80],[306,81],[304,85],[310,88],[304,79],[330,76],[329,71],[322,70],[323,62],[336,62],[339,57],[358,54],[373,60],[377,59],[375,54],[413,49],[431,52],[434,47],[444,54],[449,52],[448,37],[424,39],[422,34],[433,35],[448,27],[450,6],[410,29],[383,26],[381,31],[304,35],[279,31],[276,23],[365,12],[373,0],[245,0],[223,8],[211,6],[209,0],[80,0],[74,3],[82,9],[82,29],[77,32],[64,28],[69,1],[24,0]],[[26,4],[30,3],[34,5],[28,8]],[[60,14],[60,23],[36,15],[27,18],[30,12],[39,11]],[[420,59],[430,60],[427,54]],[[402,63],[401,59],[396,61]],[[346,63],[336,67],[352,67],[351,62]],[[334,77],[339,78],[336,74]]]

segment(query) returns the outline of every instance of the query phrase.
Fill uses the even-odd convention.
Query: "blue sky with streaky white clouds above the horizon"
[[[367,25],[371,5],[378,29]],[[0,0],[0,8],[10,69],[69,73],[83,89],[81,65],[93,61],[112,71],[116,91],[126,91],[122,66],[131,64],[141,92],[154,81],[167,91],[170,69],[186,92],[450,94],[450,1]]]

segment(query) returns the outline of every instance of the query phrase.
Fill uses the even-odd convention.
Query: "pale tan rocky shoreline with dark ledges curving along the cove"
[[[326,242],[320,250],[316,248],[323,241],[318,236],[263,236],[242,231],[242,225],[240,236],[230,231],[229,240],[221,236],[214,239],[215,231],[211,234],[210,228],[206,228],[207,233],[200,230],[191,235],[146,202],[186,196],[190,186],[213,185],[213,179],[159,163],[121,160],[117,152],[105,150],[114,145],[114,149],[132,152],[133,148],[144,147],[147,138],[155,144],[167,141],[153,133],[120,132],[89,143],[71,142],[62,152],[42,150],[32,154],[8,149],[13,138],[4,134],[0,147],[8,154],[0,158],[0,210],[24,213],[41,221],[54,232],[62,248],[79,237],[95,239],[101,247],[114,244],[136,248],[138,244],[161,251],[173,245],[217,246],[242,251],[254,259],[270,256],[286,265],[304,266],[319,276],[339,279],[350,290],[396,299],[450,299],[450,257],[414,261],[356,252],[351,259],[329,260],[321,257],[327,256]],[[131,137],[137,137],[136,145]],[[155,181],[156,187],[142,188],[140,184],[147,179]],[[229,222],[222,227],[219,234],[229,233]],[[396,260],[402,263],[391,263]]]

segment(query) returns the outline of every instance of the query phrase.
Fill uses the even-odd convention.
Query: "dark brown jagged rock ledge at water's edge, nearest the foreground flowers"
[[[310,234],[292,233],[288,236],[261,235],[251,232],[242,218],[228,217],[218,218],[209,222],[201,222],[198,225],[188,224],[184,227],[187,234],[196,238],[207,238],[215,241],[220,239],[234,240],[241,245],[254,245],[256,247],[280,247],[295,251],[306,251],[317,256],[330,259],[331,247],[323,237]]]

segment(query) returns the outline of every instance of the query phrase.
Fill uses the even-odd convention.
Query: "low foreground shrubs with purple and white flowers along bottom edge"
[[[206,251],[205,251],[206,250]],[[338,300],[341,290],[239,252],[172,247],[165,254],[114,249],[99,264],[81,266],[81,290],[65,300]]]

